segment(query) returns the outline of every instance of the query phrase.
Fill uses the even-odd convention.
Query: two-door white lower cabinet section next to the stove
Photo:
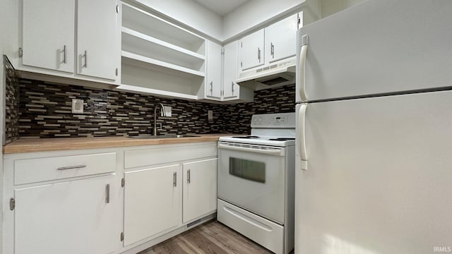
[[[124,151],[125,253],[165,241],[215,214],[217,157],[216,142]]]

